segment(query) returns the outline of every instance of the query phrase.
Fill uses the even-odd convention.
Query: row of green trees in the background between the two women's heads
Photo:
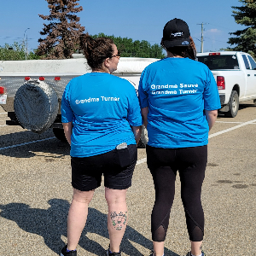
[[[140,57],[140,58],[157,58],[163,59],[166,55],[163,54],[162,48],[159,44],[149,44],[148,41],[135,40],[131,38],[121,38],[114,36],[106,36],[104,33],[92,36],[92,38],[111,38],[114,44],[121,52],[122,57]]]

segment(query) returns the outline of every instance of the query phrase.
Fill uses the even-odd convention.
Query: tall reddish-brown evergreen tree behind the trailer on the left
[[[84,32],[84,26],[79,24],[80,18],[75,15],[83,10],[78,7],[79,0],[45,0],[49,3],[49,15],[39,15],[43,20],[49,20],[44,24],[39,38],[37,54],[42,59],[68,59],[79,49],[79,36]]]

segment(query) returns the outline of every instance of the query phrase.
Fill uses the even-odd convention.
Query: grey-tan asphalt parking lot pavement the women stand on
[[[34,134],[7,126],[0,108],[0,255],[58,255],[67,242],[72,200],[69,146],[52,131]],[[256,106],[241,104],[235,119],[219,115],[209,135],[202,189],[207,256],[256,255]],[[122,255],[148,256],[154,187],[144,148],[128,190],[129,220]],[[105,255],[108,207],[104,187],[96,189],[79,241],[78,255]],[[166,256],[189,251],[180,183],[166,236]]]

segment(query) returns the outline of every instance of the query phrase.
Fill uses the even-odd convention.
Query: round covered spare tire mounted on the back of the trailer
[[[14,107],[23,128],[42,133],[55,121],[59,109],[58,96],[49,84],[29,80],[17,90]]]

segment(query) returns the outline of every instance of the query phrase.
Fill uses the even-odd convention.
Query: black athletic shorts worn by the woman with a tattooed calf
[[[101,186],[103,174],[105,187],[128,189],[136,162],[137,145],[90,157],[71,157],[73,188],[80,191],[96,189]]]

